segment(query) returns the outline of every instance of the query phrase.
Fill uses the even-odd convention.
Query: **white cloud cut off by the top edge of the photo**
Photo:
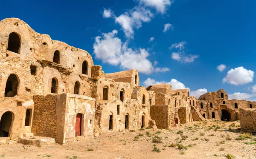
[[[158,12],[164,14],[169,6],[172,5],[173,0],[140,0],[145,6],[154,7]]]

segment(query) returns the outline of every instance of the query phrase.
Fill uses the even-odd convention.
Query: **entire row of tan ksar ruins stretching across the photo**
[[[0,139],[33,144],[31,138],[40,136],[64,144],[207,119],[240,120],[241,129],[256,131],[256,102],[230,100],[223,89],[197,99],[169,84],[140,86],[136,69],[103,70],[87,51],[37,33],[20,19],[1,20]]]

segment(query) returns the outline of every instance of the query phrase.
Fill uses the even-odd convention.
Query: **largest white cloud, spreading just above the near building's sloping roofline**
[[[155,67],[157,62],[148,60],[149,53],[144,48],[132,49],[128,48],[128,43],[116,37],[117,31],[103,33],[102,37],[97,36],[93,44],[93,53],[96,59],[111,65],[120,65],[122,69],[134,69],[144,74],[153,72],[166,72],[169,68]]]

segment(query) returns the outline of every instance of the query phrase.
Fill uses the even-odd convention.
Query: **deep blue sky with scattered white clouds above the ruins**
[[[88,51],[105,73],[137,68],[140,85],[169,82],[197,97],[223,88],[230,98],[256,99],[254,0],[4,0],[1,6],[1,20],[20,18]]]

